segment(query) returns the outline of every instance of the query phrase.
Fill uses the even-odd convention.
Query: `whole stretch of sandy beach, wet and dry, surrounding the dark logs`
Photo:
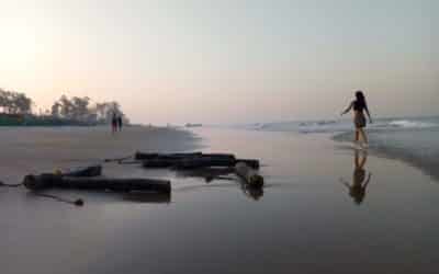
[[[58,130],[2,129],[2,178],[137,149],[203,149],[261,159],[266,186],[251,192],[238,180],[207,184],[110,164],[105,171],[113,175],[170,179],[171,198],[136,203],[114,193],[50,192],[86,201],[75,207],[0,189],[2,274],[419,274],[439,266],[439,184],[404,162],[369,155],[371,181],[357,203],[361,192],[340,182],[352,184],[358,175],[356,153],[326,135],[200,128],[193,130],[202,140],[194,142],[169,129],[134,128],[114,138],[103,129]]]

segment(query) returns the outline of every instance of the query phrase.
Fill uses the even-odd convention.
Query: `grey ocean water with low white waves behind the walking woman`
[[[327,134],[334,140],[351,142],[351,119],[293,121],[241,125],[246,129],[301,135]],[[367,127],[369,150],[399,159],[439,180],[439,116],[376,118]]]

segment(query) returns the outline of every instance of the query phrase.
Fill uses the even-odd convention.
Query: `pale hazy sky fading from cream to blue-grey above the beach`
[[[138,123],[439,114],[436,0],[0,0],[0,87]]]

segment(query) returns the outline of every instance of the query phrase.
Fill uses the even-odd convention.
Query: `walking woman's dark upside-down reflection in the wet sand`
[[[354,150],[353,157],[353,174],[352,174],[352,184],[349,184],[346,180],[340,179],[341,183],[346,185],[349,190],[349,195],[353,198],[353,201],[360,205],[364,201],[365,190],[371,181],[372,173],[369,172],[367,175],[367,171],[364,170],[365,162],[368,160],[368,152],[360,151],[358,149]]]

